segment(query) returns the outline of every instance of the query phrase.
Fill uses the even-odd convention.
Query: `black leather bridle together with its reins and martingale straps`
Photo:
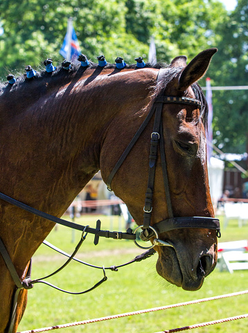
[[[166,69],[160,69],[159,70],[159,75],[157,80],[161,80],[161,77],[163,77],[164,71]],[[69,260],[65,264],[60,267],[60,269],[57,269],[52,274],[49,274],[48,276],[45,276],[44,278],[48,278],[61,269],[63,269],[71,260],[77,260],[74,258],[74,255],[76,255],[76,252],[80,248],[82,242],[84,242],[85,237],[87,236],[87,233],[92,233],[95,235],[94,238],[94,244],[98,244],[99,237],[107,237],[107,238],[112,238],[115,240],[121,240],[121,239],[126,239],[126,240],[134,240],[134,243],[141,247],[141,249],[149,249],[149,251],[146,251],[142,255],[136,256],[134,260],[131,260],[130,262],[127,262],[126,264],[130,264],[132,262],[136,261],[141,261],[145,258],[150,257],[150,255],[154,254],[155,251],[152,249],[154,246],[159,245],[159,246],[172,246],[170,242],[166,242],[163,240],[159,240],[159,234],[165,233],[167,231],[179,229],[179,228],[206,228],[206,229],[211,229],[215,230],[217,237],[220,237],[220,221],[218,219],[215,219],[213,217],[174,217],[173,211],[172,211],[172,203],[170,199],[170,188],[169,188],[169,183],[168,183],[168,171],[167,171],[167,165],[166,165],[166,153],[164,149],[164,142],[163,142],[163,126],[162,126],[162,110],[163,110],[163,104],[164,103],[179,103],[179,104],[186,104],[186,105],[194,105],[197,107],[201,106],[200,100],[196,100],[193,98],[185,98],[185,97],[173,97],[173,96],[163,96],[163,93],[161,93],[157,98],[154,100],[154,104],[152,105],[152,109],[150,109],[148,116],[145,118],[143,121],[141,127],[139,127],[138,131],[132,138],[132,141],[130,144],[127,146],[123,154],[121,155],[120,159],[114,166],[112,172],[109,174],[109,177],[107,179],[107,188],[109,190],[111,189],[111,183],[112,179],[114,178],[116,172],[118,172],[118,169],[121,167],[123,162],[125,161],[127,155],[130,153],[132,150],[132,147],[134,147],[134,144],[136,141],[138,141],[139,137],[141,136],[141,133],[145,129],[145,127],[148,125],[150,122],[152,116],[154,115],[154,125],[153,125],[153,130],[151,134],[151,141],[150,141],[150,157],[149,157],[149,174],[148,174],[148,188],[145,193],[145,205],[144,205],[144,214],[143,214],[143,224],[141,226],[138,226],[134,232],[132,229],[127,229],[126,233],[122,233],[119,231],[103,231],[100,229],[100,220],[96,222],[96,228],[90,228],[89,226],[82,226],[80,224],[76,224],[73,222],[69,222],[64,219],[60,219],[59,217],[55,217],[53,215],[49,215],[47,213],[44,213],[40,210],[37,210],[35,208],[32,208],[20,201],[17,201],[16,199],[13,199],[11,197],[8,197],[7,195],[3,194],[0,192],[0,199],[7,201],[9,204],[12,204],[14,206],[17,206],[23,210],[28,211],[29,213],[35,214],[39,217],[43,217],[44,219],[48,219],[52,222],[55,222],[57,224],[62,224],[64,226],[67,226],[69,228],[73,228],[79,231],[82,231],[82,237],[80,239],[80,242],[76,246],[75,251],[73,252],[72,255],[67,255],[67,253],[63,253],[63,251],[59,250],[60,253],[67,255],[69,257]],[[165,188],[165,193],[166,193],[166,203],[167,203],[167,209],[168,209],[168,219],[164,219],[161,222],[158,222],[156,224],[153,224],[152,226],[150,225],[151,221],[151,216],[152,216],[152,197],[153,197],[153,192],[154,192],[154,177],[155,177],[155,170],[156,170],[156,161],[157,161],[157,156],[158,156],[158,146],[160,150],[160,156],[161,156],[161,165],[162,165],[162,172],[163,172],[163,185]],[[141,239],[144,241],[152,240],[152,246],[148,247],[143,247],[139,245],[136,242],[136,231],[139,230],[139,228],[143,228],[143,231],[140,235]],[[47,245],[48,242],[44,241],[44,243]],[[57,248],[55,246],[51,246],[51,244],[48,244],[48,246],[52,247],[57,251]],[[10,275],[12,276],[12,279],[15,282],[15,285],[17,286],[14,294],[14,299],[13,299],[13,304],[12,304],[12,314],[11,314],[11,319],[10,319],[10,325],[8,328],[8,333],[12,332],[13,325],[15,323],[15,314],[16,314],[16,309],[17,309],[17,298],[19,295],[19,291],[21,289],[31,289],[33,287],[34,283],[37,282],[42,282],[46,283],[47,285],[50,285],[51,287],[55,287],[48,282],[44,282],[44,278],[42,279],[37,279],[37,280],[31,280],[30,278],[30,270],[31,266],[29,264],[28,271],[26,273],[26,278],[21,281],[17,271],[14,267],[14,264],[12,264],[12,260],[10,256],[8,255],[8,251],[6,250],[6,246],[4,246],[3,241],[0,238],[0,253],[3,257],[3,260],[6,262],[6,266],[8,267],[10,271]],[[80,262],[80,260],[77,260]],[[86,264],[85,262],[81,262],[83,264]],[[125,266],[126,264],[122,264],[120,266],[112,266],[112,267],[95,267],[98,269],[103,269],[104,277],[100,282],[96,283],[94,287],[91,287],[90,289],[86,291],[82,291],[80,293],[71,293],[69,294],[85,294],[85,292],[91,291],[92,289],[95,289],[98,287],[101,283],[103,283],[105,280],[107,280],[107,277],[105,275],[105,269],[112,269],[112,271],[117,271],[118,267]],[[89,265],[89,264],[88,264]],[[91,267],[94,267],[93,265],[89,265]],[[59,289],[55,287],[56,289]],[[62,289],[59,289],[61,291],[64,291]],[[67,292],[67,291],[65,291]]]

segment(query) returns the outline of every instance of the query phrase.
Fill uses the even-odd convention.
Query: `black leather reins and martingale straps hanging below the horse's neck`
[[[96,222],[96,228],[89,228],[89,226],[82,226],[80,224],[75,224],[73,222],[69,222],[67,220],[64,219],[60,219],[59,217],[55,217],[53,215],[49,215],[47,213],[44,213],[40,210],[37,210],[35,208],[32,208],[30,206],[27,206],[26,204],[21,203],[20,201],[17,201],[15,199],[12,199],[11,197],[8,197],[7,195],[4,195],[3,193],[0,192],[0,199],[3,199],[4,201],[7,201],[10,204],[13,204],[21,209],[24,209],[26,211],[28,211],[29,213],[33,213],[39,217],[43,217],[45,219],[48,219],[52,222],[55,222],[57,224],[61,224],[63,226],[67,226],[69,228],[73,228],[76,230],[80,230],[82,231],[82,236],[80,241],[78,242],[78,245],[76,246],[76,249],[73,251],[73,253],[71,255],[69,255],[68,253],[65,253],[64,251],[57,249],[57,247],[53,246],[52,244],[46,242],[46,240],[44,240],[44,244],[46,246],[51,247],[51,249],[54,249],[55,251],[69,257],[69,259],[62,264],[62,266],[57,269],[56,271],[54,271],[53,273],[49,274],[48,276],[44,276],[43,278],[38,278],[36,280],[32,280],[31,279],[31,260],[28,266],[28,271],[26,273],[26,278],[24,278],[23,281],[20,280],[17,271],[15,269],[14,264],[12,263],[12,260],[10,258],[10,255],[8,255],[8,251],[6,250],[6,246],[3,244],[3,241],[1,240],[0,237],[0,253],[3,257],[4,262],[6,263],[6,266],[8,267],[8,270],[10,271],[10,275],[12,277],[12,280],[14,280],[15,285],[16,285],[16,289],[15,289],[15,293],[13,296],[13,300],[12,300],[12,310],[11,310],[11,317],[10,317],[10,323],[8,326],[8,333],[12,333],[12,329],[14,327],[15,324],[15,315],[17,312],[17,300],[18,300],[18,296],[19,296],[19,292],[21,291],[21,289],[32,289],[35,285],[35,283],[44,283],[50,287],[53,287],[59,291],[63,291],[67,294],[73,294],[73,295],[80,295],[80,294],[86,294],[89,291],[92,291],[94,289],[96,289],[96,287],[99,287],[103,282],[105,282],[107,280],[107,276],[105,273],[105,270],[110,269],[112,271],[118,271],[119,267],[124,267],[127,264],[132,264],[133,262],[139,262],[141,260],[144,260],[146,258],[149,258],[151,255],[153,255],[156,251],[154,251],[154,249],[150,249],[149,251],[145,251],[144,253],[141,253],[141,255],[137,255],[133,260],[131,260],[130,262],[126,262],[125,264],[121,264],[118,266],[111,266],[111,267],[98,267],[98,266],[94,266],[92,264],[88,264],[87,262],[82,262],[81,260],[78,260],[77,258],[74,258],[74,255],[76,255],[76,253],[78,252],[78,250],[80,249],[80,246],[82,245],[82,243],[85,241],[85,238],[87,236],[88,233],[93,233],[95,235],[95,239],[94,239],[94,244],[98,244],[98,240],[99,237],[107,237],[107,238],[113,238],[114,240],[121,240],[121,239],[125,239],[125,240],[135,240],[136,235],[134,233],[132,233],[132,229],[128,229],[127,233],[121,233],[118,231],[103,231],[100,230],[100,220],[98,220]],[[84,235],[85,233],[85,235]],[[81,264],[86,264],[87,266],[90,267],[94,267],[96,269],[103,269],[103,278],[96,283],[96,285],[94,285],[93,287],[85,290],[85,291],[80,291],[80,292],[71,292],[71,291],[66,291],[64,289],[60,289],[59,287],[56,287],[55,285],[52,285],[50,282],[44,281],[46,278],[50,278],[51,276],[55,275],[56,273],[60,272],[62,269],[64,269],[64,267],[67,266],[67,264],[69,264],[69,262],[71,262],[71,260],[76,260],[77,262],[80,262]]]

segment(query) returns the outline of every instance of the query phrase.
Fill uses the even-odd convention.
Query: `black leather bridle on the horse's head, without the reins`
[[[163,78],[164,71],[167,71],[167,69],[159,70],[159,74],[157,77],[158,81],[161,80],[161,78]],[[152,109],[150,109],[148,113],[148,116],[143,121],[141,127],[139,127],[138,131],[132,138],[132,141],[125,149],[125,152],[123,152],[123,154],[121,155],[120,159],[112,169],[112,172],[110,172],[109,177],[107,179],[107,188],[109,190],[112,190],[111,183],[116,172],[119,170],[119,168],[125,161],[127,155],[132,150],[132,147],[134,147],[134,144],[139,139],[141,133],[150,122],[152,116],[154,115],[154,125],[150,141],[148,187],[145,193],[145,205],[143,208],[144,210],[143,224],[141,226],[138,226],[138,228],[136,228],[136,230],[134,231],[134,233],[136,233],[136,231],[139,228],[143,228],[143,231],[141,233],[141,239],[144,241],[148,241],[152,237],[154,237],[154,240],[152,241],[152,246],[149,247],[140,246],[139,244],[136,243],[136,240],[134,240],[135,244],[141,247],[141,249],[151,249],[155,245],[172,246],[170,242],[159,240],[159,234],[166,233],[167,231],[179,228],[206,228],[206,229],[215,230],[217,237],[221,236],[219,219],[215,219],[213,217],[174,217],[173,215],[172,202],[170,199],[166,152],[164,149],[164,142],[163,142],[162,111],[163,111],[163,104],[166,103],[194,105],[196,107],[201,107],[202,105],[200,100],[196,100],[194,98],[163,96],[163,93],[157,96],[157,98],[154,100],[154,104],[152,105]],[[163,186],[166,195],[166,204],[167,204],[169,218],[164,219],[163,221],[150,226],[150,221],[152,217],[152,197],[154,192],[154,177],[156,170],[156,161],[158,156],[158,146],[160,150],[161,167],[163,172]]]

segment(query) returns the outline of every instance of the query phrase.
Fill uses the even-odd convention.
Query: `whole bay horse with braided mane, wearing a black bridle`
[[[108,183],[109,174],[157,96],[170,96],[169,102],[159,104],[159,128],[163,129],[159,133],[164,144],[159,150],[166,152],[166,196],[170,195],[179,226],[167,231],[161,228],[161,242],[172,246],[154,246],[159,255],[157,272],[185,290],[199,289],[217,261],[216,231],[203,224],[197,228],[180,224],[184,226],[188,217],[214,216],[206,167],[207,105],[197,80],[206,73],[216,51],[202,51],[188,65],[185,56],[175,57],[169,66],[157,64],[138,70],[134,65],[118,69],[89,62],[85,67],[42,71],[34,78],[21,75],[14,84],[2,84],[0,192],[60,217],[98,170]],[[161,71],[161,67],[166,68]],[[191,100],[197,102],[188,102]],[[145,208],[151,227],[172,221],[162,155],[153,175],[152,200],[147,194],[154,118],[156,123],[152,115],[110,179],[111,188],[138,225],[143,225],[144,201],[152,201],[150,212]],[[0,237],[23,280],[30,258],[55,224],[3,200],[0,207]],[[16,287],[1,255],[0,268],[0,332],[6,333]],[[12,332],[17,332],[26,303],[27,290],[22,289]]]

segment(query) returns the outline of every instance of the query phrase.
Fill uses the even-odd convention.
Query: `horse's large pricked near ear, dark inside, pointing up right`
[[[191,84],[202,78],[209,67],[211,58],[218,51],[218,48],[208,48],[199,53],[181,72],[178,89],[186,90]]]

